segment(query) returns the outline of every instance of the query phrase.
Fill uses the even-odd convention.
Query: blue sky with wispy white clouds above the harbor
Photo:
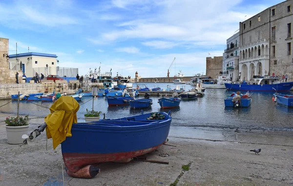
[[[80,75],[206,73],[239,22],[284,0],[0,0],[0,37],[9,54],[56,54]],[[175,60],[174,60],[175,58]]]

